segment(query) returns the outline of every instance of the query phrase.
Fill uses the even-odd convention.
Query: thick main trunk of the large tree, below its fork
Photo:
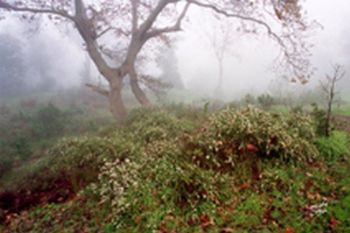
[[[122,87],[122,79],[113,80],[109,92],[110,110],[119,123],[123,123],[128,114],[122,98]]]

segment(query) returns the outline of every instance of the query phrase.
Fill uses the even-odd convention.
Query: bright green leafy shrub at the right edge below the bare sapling
[[[349,139],[346,133],[333,131],[330,137],[320,137],[316,140],[320,153],[327,159],[339,159],[349,152]]]

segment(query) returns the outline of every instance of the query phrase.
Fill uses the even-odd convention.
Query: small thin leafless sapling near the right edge
[[[332,65],[333,74],[326,74],[325,80],[320,81],[321,88],[326,95],[327,109],[326,109],[326,119],[325,119],[325,135],[329,137],[331,131],[331,120],[332,120],[332,107],[335,101],[336,83],[339,82],[345,76],[344,67],[335,64]]]

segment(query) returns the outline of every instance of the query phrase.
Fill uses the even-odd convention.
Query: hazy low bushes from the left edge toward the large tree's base
[[[76,107],[61,109],[48,103],[27,112],[0,114],[0,177],[30,158],[44,156],[63,135],[96,131],[96,125],[110,122],[82,113]]]

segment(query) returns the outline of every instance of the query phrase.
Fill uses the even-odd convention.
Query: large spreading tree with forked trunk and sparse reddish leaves
[[[181,30],[190,5],[236,19],[243,28],[267,32],[281,48],[279,61],[284,70],[293,78],[307,79],[310,54],[305,31],[310,25],[299,0],[0,0],[0,10],[22,19],[33,20],[44,14],[54,22],[74,25],[109,89],[89,86],[109,99],[111,112],[118,119],[127,115],[122,100],[126,76],[137,100],[150,104],[139,85],[135,63],[150,41],[164,41],[168,33]],[[106,38],[113,45],[105,43]],[[114,62],[115,57],[122,62]]]

